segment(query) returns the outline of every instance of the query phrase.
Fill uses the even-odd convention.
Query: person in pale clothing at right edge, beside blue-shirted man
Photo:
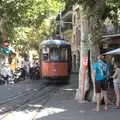
[[[114,91],[116,95],[116,106],[115,108],[120,109],[120,67],[119,65],[114,65],[115,72],[112,76],[113,84],[114,84]]]

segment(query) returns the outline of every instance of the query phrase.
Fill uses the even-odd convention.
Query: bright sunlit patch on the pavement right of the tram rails
[[[49,115],[53,115],[53,114],[57,114],[65,111],[66,111],[65,109],[61,109],[61,108],[53,108],[53,107],[45,108],[36,116],[36,119],[47,117]]]

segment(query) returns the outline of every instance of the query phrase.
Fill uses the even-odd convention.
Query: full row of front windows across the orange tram
[[[63,48],[63,47],[43,48],[42,60],[67,61],[68,60],[68,48]]]

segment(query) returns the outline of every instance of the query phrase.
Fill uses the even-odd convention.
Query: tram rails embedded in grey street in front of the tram
[[[15,96],[14,98],[10,98],[9,100],[6,100],[5,102],[1,102],[0,101],[0,106],[11,106],[12,108],[7,109],[4,111],[4,115],[1,118],[1,120],[5,120],[7,117],[9,117],[12,114],[12,111],[23,111],[23,110],[30,110],[32,109],[32,104],[41,104],[42,106],[39,108],[36,108],[34,110],[36,110],[36,112],[33,115],[33,118],[35,117],[35,115],[37,114],[37,111],[39,111],[40,109],[42,109],[43,105],[45,105],[45,103],[47,103],[47,101],[50,99],[51,94],[53,94],[54,92],[56,92],[59,89],[58,86],[43,86],[40,87],[36,90],[30,90],[30,91],[26,91],[25,93],[21,93],[18,96]],[[24,99],[22,101],[20,101],[20,99]],[[18,100],[18,101],[17,101]],[[18,104],[19,102],[19,104]]]

